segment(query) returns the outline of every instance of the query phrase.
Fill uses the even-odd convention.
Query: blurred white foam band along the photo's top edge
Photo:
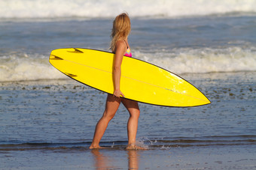
[[[256,13],[256,0],[8,0],[0,1],[0,18],[203,16],[224,13]]]

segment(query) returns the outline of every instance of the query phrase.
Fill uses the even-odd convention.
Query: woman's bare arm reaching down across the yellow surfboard
[[[126,52],[126,45],[123,40],[117,41],[115,57],[114,57],[114,96],[124,97],[123,93],[120,91],[120,76],[121,76],[121,64],[123,61],[123,55]]]

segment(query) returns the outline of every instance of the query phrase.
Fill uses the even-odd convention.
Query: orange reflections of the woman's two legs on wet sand
[[[97,170],[103,169],[117,169],[117,166],[114,166],[114,159],[109,156],[103,154],[102,150],[100,149],[93,149],[91,153],[94,156],[94,167]],[[126,151],[128,156],[128,169],[139,169],[139,154],[138,151]]]

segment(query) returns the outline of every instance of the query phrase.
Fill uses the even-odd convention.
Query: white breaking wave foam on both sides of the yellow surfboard
[[[256,71],[256,49],[172,49],[161,52],[133,51],[134,58],[148,61],[172,73],[212,73]],[[38,79],[67,79],[56,70],[49,57],[39,54],[13,54],[0,57],[0,82]]]

